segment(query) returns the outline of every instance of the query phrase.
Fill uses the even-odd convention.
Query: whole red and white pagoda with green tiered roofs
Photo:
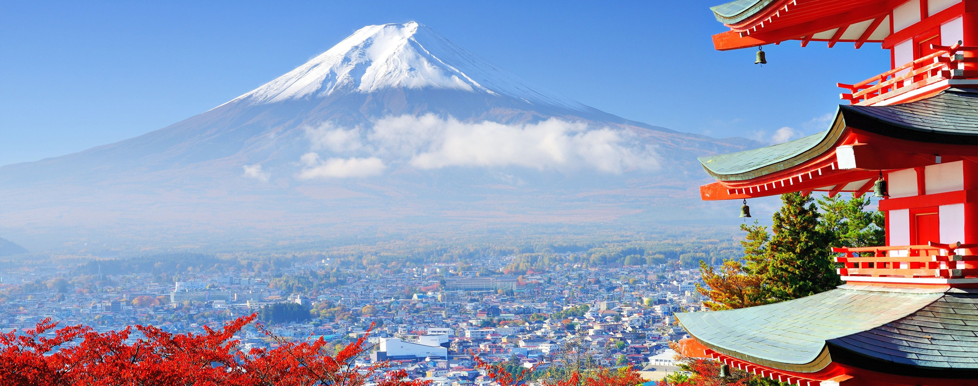
[[[687,355],[803,386],[978,385],[978,0],[736,0],[718,50],[880,43],[822,133],[700,158],[703,199],[883,195],[886,245],[836,248],[845,284],[678,314]],[[763,62],[759,55],[758,62]],[[879,181],[881,180],[881,182]]]

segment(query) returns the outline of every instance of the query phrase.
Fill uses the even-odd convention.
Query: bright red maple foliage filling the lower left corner
[[[132,327],[99,333],[87,326],[48,331],[57,323],[46,319],[19,333],[0,334],[0,385],[335,385],[422,386],[405,380],[404,370],[388,365],[354,365],[365,351],[366,335],[330,356],[316,341],[290,342],[260,326],[279,346],[238,349],[235,333],[253,322],[242,317],[219,330],[204,326],[201,334],[171,334],[155,326],[137,325],[143,337],[130,339]]]

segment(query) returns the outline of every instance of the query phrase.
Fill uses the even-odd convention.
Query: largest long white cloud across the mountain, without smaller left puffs
[[[624,130],[589,130],[585,123],[556,118],[506,125],[431,114],[380,119],[368,135],[379,153],[409,157],[419,169],[522,166],[621,173],[658,168],[654,151],[636,146],[632,137]]]

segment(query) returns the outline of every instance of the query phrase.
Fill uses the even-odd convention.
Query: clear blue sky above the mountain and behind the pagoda
[[[713,137],[825,128],[878,44],[714,51],[719,1],[4,2],[0,165],[138,136],[227,102],[368,24],[419,21],[586,105]],[[781,138],[786,138],[781,136]]]

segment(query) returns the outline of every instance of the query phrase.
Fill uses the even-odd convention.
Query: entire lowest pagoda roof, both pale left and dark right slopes
[[[978,376],[978,291],[844,284],[738,310],[677,314],[704,346],[757,365],[831,363],[901,375]]]

